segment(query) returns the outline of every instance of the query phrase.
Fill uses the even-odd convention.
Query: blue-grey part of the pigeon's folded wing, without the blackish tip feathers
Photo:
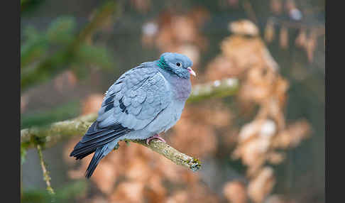
[[[168,82],[155,68],[144,64],[128,70],[106,92],[98,126],[142,129],[170,104],[169,95]]]

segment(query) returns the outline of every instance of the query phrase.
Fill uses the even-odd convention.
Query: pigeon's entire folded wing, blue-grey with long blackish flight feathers
[[[155,68],[143,64],[128,70],[109,87],[97,121],[70,155],[82,159],[126,133],[144,128],[170,104],[169,94],[168,82]]]

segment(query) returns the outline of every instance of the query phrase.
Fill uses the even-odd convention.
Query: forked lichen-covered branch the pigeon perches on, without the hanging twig
[[[239,89],[239,82],[237,79],[222,79],[206,84],[197,84],[193,86],[192,93],[187,100],[187,103],[201,101],[207,98],[226,97],[236,93]],[[45,148],[54,146],[57,142],[65,138],[72,138],[73,136],[81,136],[86,133],[92,122],[97,119],[97,114],[89,114],[87,116],[80,116],[76,119],[60,121],[46,127],[31,127],[21,130],[21,146],[24,148],[32,148],[35,145],[43,145]],[[131,141],[131,140],[128,140]],[[139,143],[151,150],[160,153],[172,160],[177,165],[182,165],[191,170],[198,170],[200,162],[196,158],[192,158],[184,153],[172,148],[167,143],[160,141],[151,141],[149,145],[145,141],[131,141]]]

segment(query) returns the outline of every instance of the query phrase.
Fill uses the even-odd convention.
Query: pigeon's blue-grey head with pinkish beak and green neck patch
[[[195,72],[192,70],[193,62],[186,55],[179,53],[163,53],[160,55],[160,59],[157,60],[157,62],[160,68],[178,77],[188,79],[190,75],[196,76]]]

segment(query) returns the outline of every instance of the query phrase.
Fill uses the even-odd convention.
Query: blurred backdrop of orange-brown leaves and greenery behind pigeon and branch
[[[98,111],[126,70],[189,56],[192,84],[236,94],[187,104],[165,133],[192,172],[121,142],[87,181],[80,137],[44,148],[55,202],[324,202],[322,0],[21,0],[21,128]],[[21,152],[22,202],[50,202],[38,150]]]

